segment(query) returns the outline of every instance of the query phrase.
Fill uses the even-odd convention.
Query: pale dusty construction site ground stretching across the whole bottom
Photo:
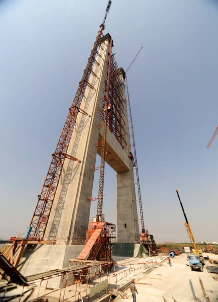
[[[204,256],[206,256],[206,254],[204,254]],[[218,261],[218,255],[208,254],[208,256],[210,259]],[[22,298],[20,296],[20,302],[26,298],[27,301],[32,301],[37,298],[43,298],[44,300],[48,298],[49,301],[53,302],[62,300],[82,301],[82,298],[84,302],[94,301],[102,298],[106,293],[110,293],[114,289],[119,289],[121,285],[126,288],[125,284],[128,282],[130,284],[132,278],[135,279],[138,290],[138,294],[136,294],[137,302],[163,301],[163,297],[167,302],[173,302],[173,298],[176,302],[193,301],[189,279],[192,281],[198,301],[206,301],[201,290],[199,277],[203,282],[209,301],[218,301],[218,281],[213,279],[213,277],[218,277],[218,275],[207,272],[205,267],[210,265],[208,261],[205,261],[203,272],[200,272],[190,270],[189,266],[187,266],[188,261],[186,261],[186,254],[184,253],[171,258],[171,267],[167,264],[166,255],[146,259],[114,258],[117,262],[115,271],[114,268],[112,268],[108,274],[105,273],[101,277],[96,275],[96,278],[92,279],[92,282],[89,284],[85,282],[81,285],[74,284],[58,289],[49,287],[47,283],[49,279],[30,282],[30,287],[35,287],[35,290],[29,298],[27,298],[29,293],[24,294]],[[106,280],[108,280],[107,291],[105,289],[102,290],[101,293],[96,292],[94,296],[89,297],[90,288]],[[22,294],[23,290],[22,286],[18,286],[18,288],[15,289],[18,295]],[[125,302],[127,300],[132,302],[132,295],[128,287],[124,290],[124,295],[123,297],[118,295],[115,299],[116,302]]]

